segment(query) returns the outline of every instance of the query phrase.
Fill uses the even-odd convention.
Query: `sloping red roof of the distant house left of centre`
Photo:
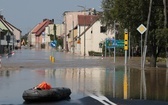
[[[41,23],[36,25],[36,27],[32,30],[32,33],[34,33],[35,35],[41,35],[41,33],[44,32],[45,27],[53,23],[53,20],[44,19]]]

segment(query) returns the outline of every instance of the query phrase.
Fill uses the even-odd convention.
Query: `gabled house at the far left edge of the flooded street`
[[[20,48],[21,30],[7,22],[3,15],[0,15],[0,54],[10,53],[14,48]]]

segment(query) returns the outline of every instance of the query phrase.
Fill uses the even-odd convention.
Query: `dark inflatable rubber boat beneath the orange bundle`
[[[71,90],[65,87],[51,88],[48,90],[31,88],[23,92],[26,102],[58,101],[70,98]]]

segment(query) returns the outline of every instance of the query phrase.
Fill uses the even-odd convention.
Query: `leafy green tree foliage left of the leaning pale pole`
[[[148,0],[103,0],[101,21],[108,29],[113,29],[113,23],[116,21],[120,24],[118,27],[120,38],[124,37],[124,29],[127,28],[132,33],[131,43],[135,46],[140,45],[141,37],[136,28],[146,22],[148,14],[146,1]]]

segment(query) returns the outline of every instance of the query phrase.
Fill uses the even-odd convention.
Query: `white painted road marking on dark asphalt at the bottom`
[[[108,98],[106,98],[105,96],[96,96],[96,95],[90,95],[90,97],[98,100],[99,102],[101,102],[104,105],[117,105],[113,102],[111,102]]]

